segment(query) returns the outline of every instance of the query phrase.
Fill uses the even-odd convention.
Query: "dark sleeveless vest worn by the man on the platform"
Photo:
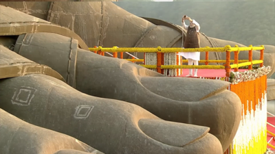
[[[184,48],[199,48],[199,33],[196,27],[188,26]]]

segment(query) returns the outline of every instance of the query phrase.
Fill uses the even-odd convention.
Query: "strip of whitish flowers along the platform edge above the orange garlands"
[[[246,70],[244,72],[231,72],[229,81],[231,82],[231,84],[239,84],[243,81],[252,81],[258,77],[267,75],[268,73],[270,73],[270,71],[270,66],[263,66],[258,69]]]

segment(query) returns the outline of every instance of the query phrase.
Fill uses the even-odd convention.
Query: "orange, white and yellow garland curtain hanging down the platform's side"
[[[266,79],[267,76],[263,75],[250,81],[230,84],[230,90],[241,99],[243,114],[236,136],[225,154],[265,153],[267,147]]]

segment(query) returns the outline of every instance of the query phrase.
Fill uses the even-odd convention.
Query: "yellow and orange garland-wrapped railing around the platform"
[[[230,47],[230,45],[226,45],[225,47],[218,48],[192,48],[192,49],[182,49],[182,48],[102,48],[102,47],[94,47],[89,48],[90,51],[94,51],[100,55],[104,55],[104,52],[113,53],[113,57],[118,57],[118,53],[120,53],[120,58],[123,58],[124,52],[140,52],[140,53],[157,53],[157,65],[141,65],[146,68],[156,68],[158,73],[162,73],[162,69],[173,69],[173,68],[199,68],[199,69],[225,69],[226,77],[230,77],[230,70],[234,68],[234,71],[238,71],[238,68],[241,66],[248,66],[248,69],[252,69],[253,64],[260,64],[263,66],[263,51],[265,47],[263,45],[261,47]],[[252,51],[260,50],[261,57],[260,60],[252,60]],[[249,51],[248,60],[239,60],[239,52],[240,51]],[[205,63],[206,65],[199,66],[186,66],[186,65],[164,65],[164,53],[178,53],[178,52],[206,52],[206,60],[199,61],[200,63]],[[226,52],[226,60],[208,60],[209,53],[208,52]],[[230,52],[234,52],[234,60],[230,60]],[[127,59],[131,62],[144,62],[144,60],[135,60],[135,59]],[[187,62],[183,60],[183,62]],[[221,62],[225,63],[224,65],[219,66],[208,66],[210,62]],[[241,63],[239,63],[241,62]],[[230,64],[234,63],[234,64]]]

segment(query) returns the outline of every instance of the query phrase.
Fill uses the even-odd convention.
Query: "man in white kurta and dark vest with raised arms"
[[[185,20],[190,21],[190,25],[186,25]],[[199,23],[188,16],[182,17],[182,27],[187,30],[186,40],[184,41],[184,48],[199,48]],[[181,52],[182,55],[188,60],[188,65],[199,65],[200,52]],[[192,68],[189,69],[189,74],[186,77],[192,76]],[[194,69],[194,77],[197,77],[197,69]]]

